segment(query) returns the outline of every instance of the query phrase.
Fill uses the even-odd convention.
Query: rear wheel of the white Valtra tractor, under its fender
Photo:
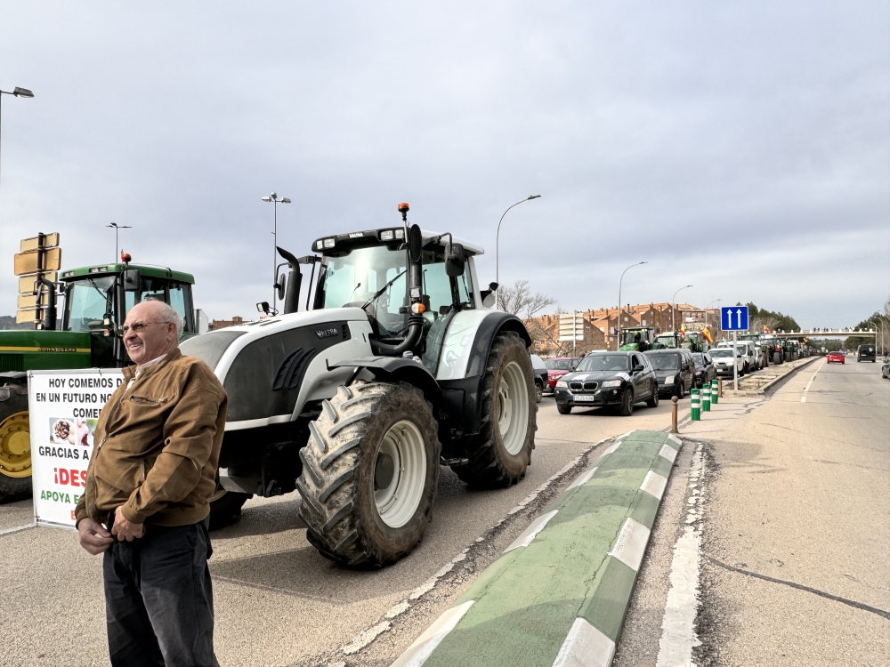
[[[525,342],[518,333],[499,333],[485,365],[479,434],[469,443],[469,462],[453,469],[470,486],[498,488],[524,477],[538,430],[532,377]]]

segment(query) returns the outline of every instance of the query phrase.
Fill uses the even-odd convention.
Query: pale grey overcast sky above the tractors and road
[[[890,293],[886,2],[4,3],[0,314],[63,265],[270,298],[279,245],[410,221],[562,309],[754,301],[845,326]]]

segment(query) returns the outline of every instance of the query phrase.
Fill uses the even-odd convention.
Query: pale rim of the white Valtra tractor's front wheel
[[[426,446],[414,422],[402,420],[386,431],[374,458],[371,488],[377,515],[400,528],[417,511],[426,486]]]

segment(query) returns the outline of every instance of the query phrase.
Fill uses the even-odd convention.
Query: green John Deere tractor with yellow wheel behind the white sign
[[[117,335],[126,313],[141,301],[164,301],[185,320],[183,338],[196,335],[188,273],[154,266],[100,264],[63,271],[46,291],[43,328],[0,331],[0,501],[31,488],[28,377],[33,370],[121,368],[130,363]],[[56,290],[65,297],[56,320]]]

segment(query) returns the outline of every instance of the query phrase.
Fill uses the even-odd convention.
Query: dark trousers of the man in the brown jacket
[[[105,551],[102,578],[114,667],[219,666],[208,523],[146,524],[141,538],[115,540]]]

